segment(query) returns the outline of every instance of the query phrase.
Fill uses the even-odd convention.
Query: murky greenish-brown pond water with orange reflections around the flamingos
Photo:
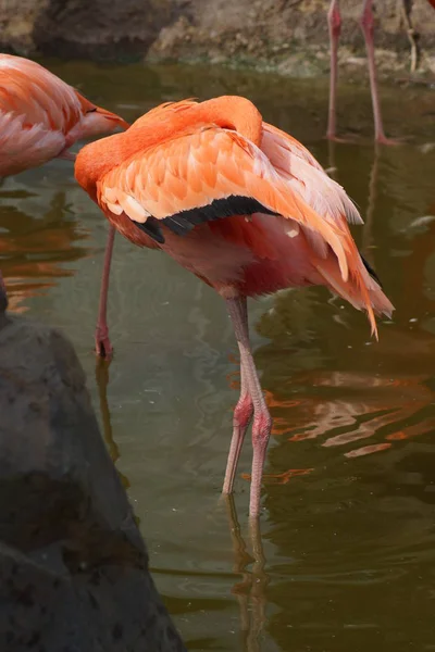
[[[74,341],[188,649],[435,650],[434,91],[383,89],[387,130],[412,139],[375,151],[363,86],[339,93],[340,130],[358,145],[331,148],[322,138],[327,80],[44,63],[129,121],[183,97],[250,97],[335,168],[366,221],[356,238],[397,308],[377,344],[364,316],[322,289],[251,302],[275,419],[262,536],[251,541],[249,441],[235,504],[217,500],[237,400],[236,347],[220,298],[163,254],[119,237],[105,402],[91,351],[105,221],[69,162],[2,184],[12,310]]]

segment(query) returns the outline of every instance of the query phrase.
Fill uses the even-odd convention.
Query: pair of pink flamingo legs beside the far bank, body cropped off
[[[435,0],[427,0],[435,9]],[[403,0],[405,3],[405,0]],[[405,8],[405,14],[408,12]],[[408,16],[409,17],[409,16]],[[339,0],[332,0],[327,12],[327,23],[330,29],[331,43],[331,73],[330,73],[330,109],[327,118],[326,137],[331,140],[340,140],[336,136],[336,97],[337,97],[337,52],[338,40],[341,32],[341,14],[339,11]],[[369,62],[370,90],[372,95],[373,117],[374,117],[374,138],[381,145],[398,145],[398,140],[393,140],[385,136],[384,124],[382,120],[380,97],[377,93],[376,65],[374,61],[374,20],[373,20],[373,0],[364,0],[360,18],[360,26],[365,41],[365,50]],[[410,25],[411,27],[411,25]]]

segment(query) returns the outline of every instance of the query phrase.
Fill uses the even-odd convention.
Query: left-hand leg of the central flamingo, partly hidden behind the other
[[[240,314],[244,321],[244,328],[249,333],[248,326],[248,306],[245,297],[240,298]],[[249,336],[248,336],[249,337]],[[249,393],[248,372],[240,356],[240,397],[234,409],[233,416],[233,438],[229,446],[228,460],[226,463],[223,493],[232,493],[234,478],[237,471],[237,464],[240,456],[241,446],[244,443],[246,430],[250,424],[253,413],[253,403]]]

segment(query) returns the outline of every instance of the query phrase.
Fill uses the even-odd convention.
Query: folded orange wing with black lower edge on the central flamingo
[[[328,244],[348,276],[353,249],[346,224],[321,217],[258,147],[232,130],[203,127],[134,154],[97,183],[97,199],[159,242],[162,224],[184,235],[225,216],[282,215],[314,234],[322,255]]]

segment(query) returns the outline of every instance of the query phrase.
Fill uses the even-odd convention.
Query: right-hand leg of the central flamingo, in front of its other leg
[[[227,310],[233,322],[234,331],[240,351],[240,361],[244,365],[246,381],[253,403],[253,454],[249,515],[251,517],[257,517],[260,514],[261,479],[263,476],[263,466],[265,460],[265,452],[268,449],[268,442],[271,436],[272,418],[269,413],[268,405],[265,404],[260,380],[256,369],[256,364],[252,358],[248,326],[244,316],[244,302],[246,302],[246,299],[240,297],[226,299]]]

